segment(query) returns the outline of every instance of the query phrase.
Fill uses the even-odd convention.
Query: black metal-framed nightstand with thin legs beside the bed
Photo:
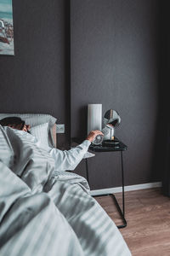
[[[118,201],[116,201],[116,196],[114,194],[105,194],[105,195],[94,195],[94,197],[98,197],[98,196],[111,196],[112,200],[115,202],[116,204],[116,208],[120,214],[120,217],[122,218],[122,225],[118,225],[117,228],[118,229],[122,229],[124,227],[127,226],[127,221],[125,218],[125,198],[124,198],[124,169],[123,169],[123,157],[122,157],[122,152],[127,150],[127,145],[125,145],[124,143],[122,143],[119,139],[115,138],[115,143],[112,144],[111,146],[105,146],[104,143],[102,143],[101,145],[93,145],[91,144],[89,147],[89,150],[92,152],[120,152],[121,155],[121,173],[122,173],[122,209],[119,206]],[[87,180],[89,183],[89,175],[88,175],[88,159],[86,159],[86,174],[87,174]]]

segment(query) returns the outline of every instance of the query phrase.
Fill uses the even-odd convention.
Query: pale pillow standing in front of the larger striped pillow
[[[48,146],[48,123],[36,125],[30,129],[31,135],[37,137],[38,140],[44,145]]]

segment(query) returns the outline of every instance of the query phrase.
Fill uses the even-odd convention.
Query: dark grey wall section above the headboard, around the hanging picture
[[[67,136],[70,20],[66,2],[13,1],[15,55],[0,55],[0,113],[50,113],[65,123]],[[59,143],[64,141],[65,136],[60,136]]]

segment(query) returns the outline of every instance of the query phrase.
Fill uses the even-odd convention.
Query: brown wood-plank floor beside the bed
[[[122,206],[122,194],[116,199]],[[116,224],[122,224],[110,196],[97,198]],[[133,256],[170,256],[170,199],[161,189],[125,193],[127,227],[120,229]]]

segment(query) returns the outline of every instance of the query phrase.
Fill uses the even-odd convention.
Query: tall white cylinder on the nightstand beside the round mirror
[[[88,104],[88,133],[102,129],[102,104]]]

